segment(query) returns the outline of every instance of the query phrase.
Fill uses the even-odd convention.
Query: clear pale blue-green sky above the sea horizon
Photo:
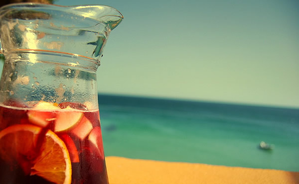
[[[56,0],[104,4],[123,22],[98,92],[299,107],[298,0]]]

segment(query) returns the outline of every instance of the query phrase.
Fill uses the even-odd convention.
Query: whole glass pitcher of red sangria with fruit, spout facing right
[[[104,5],[0,8],[0,184],[108,184],[96,70],[122,20]]]

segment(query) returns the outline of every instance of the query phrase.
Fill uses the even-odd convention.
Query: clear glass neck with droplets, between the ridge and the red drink
[[[11,52],[3,66],[0,103],[32,107],[41,100],[75,102],[97,109],[98,66],[88,58],[65,53]]]

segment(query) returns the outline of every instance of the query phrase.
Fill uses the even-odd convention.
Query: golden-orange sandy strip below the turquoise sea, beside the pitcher
[[[106,157],[110,184],[299,184],[299,172]]]

